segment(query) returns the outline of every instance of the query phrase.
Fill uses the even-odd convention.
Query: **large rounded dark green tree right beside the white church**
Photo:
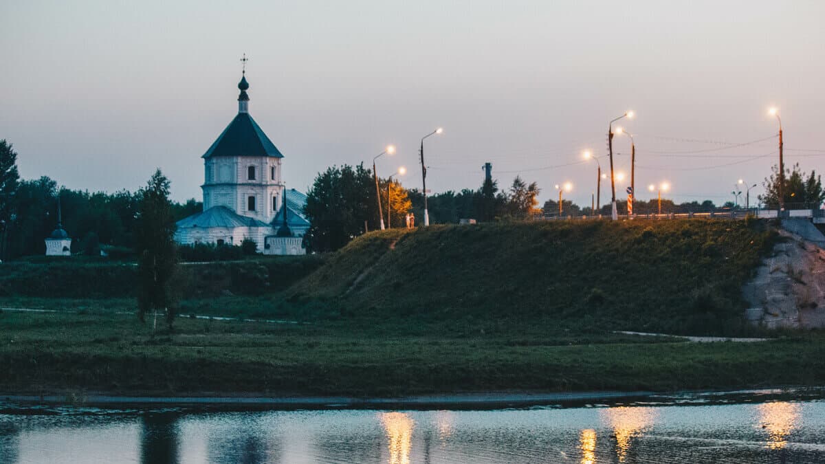
[[[305,239],[312,251],[342,248],[365,232],[365,222],[371,230],[379,229],[372,172],[361,163],[355,168],[332,166],[318,173],[307,194],[304,214],[309,220]]]

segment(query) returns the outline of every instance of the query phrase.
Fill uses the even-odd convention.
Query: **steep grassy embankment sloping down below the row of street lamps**
[[[775,231],[759,221],[434,226],[365,234],[286,292],[342,316],[742,334],[741,287]],[[483,326],[483,325],[482,325]]]

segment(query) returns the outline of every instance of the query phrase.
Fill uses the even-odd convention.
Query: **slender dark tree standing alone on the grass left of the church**
[[[163,309],[172,329],[175,301],[171,283],[177,267],[177,253],[169,180],[158,169],[138,195],[138,318],[144,322],[146,311]]]

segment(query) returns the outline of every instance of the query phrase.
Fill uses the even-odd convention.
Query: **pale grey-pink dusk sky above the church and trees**
[[[778,161],[825,170],[825,2],[120,2],[0,0],[0,139],[21,177],[73,189],[144,185],[155,168],[177,200],[200,199],[203,160],[238,111],[285,155],[287,187],[331,165],[399,166],[406,187],[478,188],[482,166],[590,205],[608,122],[634,135],[637,198],[753,199]],[[629,175],[629,139],[614,139]],[[606,170],[609,161],[600,159]],[[617,182],[625,195],[627,180]],[[610,183],[602,184],[601,203]]]

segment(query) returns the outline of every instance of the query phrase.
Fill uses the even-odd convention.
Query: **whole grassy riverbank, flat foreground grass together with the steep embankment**
[[[724,220],[373,233],[329,257],[289,258],[280,268],[271,261],[262,281],[271,285],[261,294],[213,289],[181,300],[184,315],[288,322],[181,317],[172,332],[162,318],[158,329],[139,324],[132,298],[10,291],[0,306],[54,312],[0,313],[7,367],[0,391],[410,395],[825,385],[823,334],[686,343],[613,333],[764,334],[743,323],[740,289],[775,239],[763,223]],[[233,268],[198,269],[230,282],[222,288],[245,281]]]

